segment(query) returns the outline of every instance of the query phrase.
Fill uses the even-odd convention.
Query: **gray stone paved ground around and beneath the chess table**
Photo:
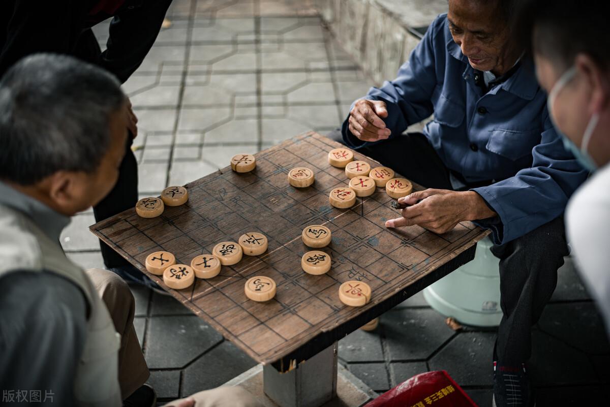
[[[140,194],[159,194],[306,130],[326,132],[370,86],[323,29],[307,1],[174,0],[164,29],[124,85],[140,119]],[[106,27],[98,27],[101,44]],[[62,235],[70,257],[101,267],[88,232],[93,214]],[[170,297],[132,288],[135,326],[161,400],[213,388],[254,361]],[[383,392],[412,375],[446,369],[480,406],[491,405],[495,332],[456,333],[417,294],[382,316],[373,333],[339,342],[340,362]],[[610,347],[573,267],[534,328],[539,406],[567,405],[608,389]]]

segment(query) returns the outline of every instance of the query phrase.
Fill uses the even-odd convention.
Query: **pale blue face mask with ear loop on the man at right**
[[[557,98],[557,95],[559,94],[559,91],[561,91],[565,87],[565,85],[567,85],[567,83],[569,83],[570,80],[572,80],[572,78],[575,75],[576,75],[576,67],[573,66],[572,68],[565,71],[565,73],[559,78],[557,83],[555,83],[555,85],[553,86],[553,89],[551,89],[550,93],[548,94],[548,99],[547,99],[548,115],[551,118],[551,122],[553,122],[553,126],[555,127],[555,130],[559,133],[559,135],[562,138],[562,141],[564,143],[564,148],[574,155],[574,157],[576,158],[576,161],[578,161],[580,163],[580,165],[582,165],[584,168],[586,168],[590,172],[594,172],[597,169],[597,164],[595,164],[595,161],[593,160],[593,158],[591,158],[591,156],[587,152],[587,147],[589,146],[589,141],[591,139],[591,135],[593,134],[593,132],[595,130],[595,126],[597,126],[597,121],[599,119],[599,115],[597,113],[594,113],[591,116],[591,118],[589,120],[589,124],[587,124],[587,128],[584,130],[583,141],[581,143],[580,148],[578,148],[578,146],[576,146],[576,144],[574,144],[574,142],[572,140],[570,140],[568,138],[568,136],[566,136],[564,133],[561,132],[561,130],[559,130],[559,127],[557,126],[557,123],[553,118],[553,104],[554,104],[555,99]]]

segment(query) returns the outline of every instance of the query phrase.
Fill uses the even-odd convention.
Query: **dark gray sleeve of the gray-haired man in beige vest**
[[[82,292],[65,278],[46,272],[0,278],[0,389],[28,397],[40,391],[35,405],[73,406],[86,313]],[[17,400],[15,406],[24,405]]]

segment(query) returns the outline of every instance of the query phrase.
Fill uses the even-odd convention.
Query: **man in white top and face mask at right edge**
[[[522,21],[548,111],[564,146],[591,177],[570,199],[576,266],[610,337],[610,34],[608,1],[528,1]]]

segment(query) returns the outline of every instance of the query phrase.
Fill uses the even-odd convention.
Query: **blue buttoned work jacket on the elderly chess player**
[[[496,244],[504,244],[560,216],[587,172],[562,146],[531,63],[520,63],[487,93],[475,84],[474,74],[443,14],[397,79],[371,88],[365,99],[386,102],[390,137],[434,113],[423,133],[445,166],[468,183],[495,181],[472,190],[499,218],[476,223],[492,230]],[[351,147],[370,144],[359,142],[347,121],[342,131]]]

